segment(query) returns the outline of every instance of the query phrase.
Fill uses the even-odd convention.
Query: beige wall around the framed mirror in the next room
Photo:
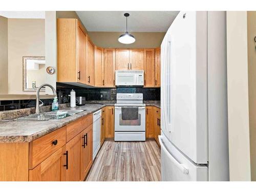
[[[45,56],[45,19],[8,18],[8,94],[35,94],[23,92],[23,56]]]

